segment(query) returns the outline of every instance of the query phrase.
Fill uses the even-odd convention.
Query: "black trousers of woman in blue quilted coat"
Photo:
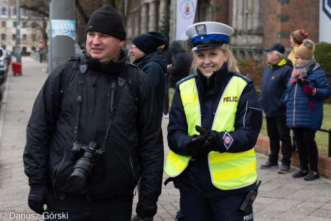
[[[318,171],[318,149],[315,142],[316,131],[308,128],[293,128],[297,138],[300,168],[303,170]]]

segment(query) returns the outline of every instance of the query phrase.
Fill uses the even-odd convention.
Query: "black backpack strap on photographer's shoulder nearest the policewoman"
[[[139,70],[137,65],[127,63],[127,84],[136,107],[140,104]]]

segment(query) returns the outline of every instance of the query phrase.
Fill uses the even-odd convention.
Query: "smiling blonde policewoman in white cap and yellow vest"
[[[171,149],[164,172],[180,192],[178,221],[253,221],[239,210],[256,190],[254,146],[262,107],[252,80],[238,73],[229,36],[233,28],[202,22],[192,38],[194,74],[176,84],[169,114]]]

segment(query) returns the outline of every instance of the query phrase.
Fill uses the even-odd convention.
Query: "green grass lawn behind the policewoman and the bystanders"
[[[174,96],[174,88],[169,88],[169,104],[171,105],[171,102],[173,100]],[[323,116],[323,124],[322,129],[330,130],[331,129],[331,104],[324,104],[324,116]],[[292,130],[291,130],[291,137],[292,137]],[[267,135],[267,124],[265,122],[265,118],[263,118],[263,124],[260,134],[263,134],[265,136]],[[329,152],[329,133],[317,131],[316,137],[315,137],[318,150],[322,153],[328,153]]]

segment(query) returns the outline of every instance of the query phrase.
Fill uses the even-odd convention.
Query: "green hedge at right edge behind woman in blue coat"
[[[331,44],[327,42],[316,43],[314,56],[316,62],[321,65],[321,69],[326,72],[328,81],[331,84]],[[331,104],[331,98],[325,100],[324,103]]]

